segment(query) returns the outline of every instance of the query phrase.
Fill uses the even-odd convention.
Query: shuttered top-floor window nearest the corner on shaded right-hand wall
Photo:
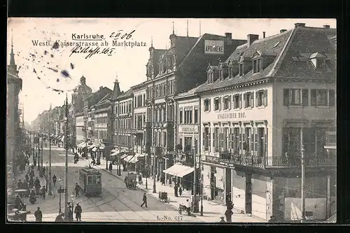
[[[307,89],[284,89],[283,90],[284,106],[308,106],[309,90]]]

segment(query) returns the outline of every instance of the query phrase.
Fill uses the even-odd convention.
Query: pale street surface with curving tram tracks
[[[47,143],[48,144],[48,143]],[[45,143],[43,144],[45,146]],[[47,145],[48,146],[48,145]],[[43,165],[48,170],[48,165],[46,162],[49,161],[49,148],[43,148]],[[44,200],[42,197],[37,198],[36,204],[30,204],[29,199],[25,198],[24,202],[27,204],[27,210],[31,213],[27,216],[29,222],[34,222],[34,212],[37,207],[40,207],[43,213],[43,222],[53,222],[57,217],[59,211],[59,194],[57,189],[59,188],[59,179],[62,179],[61,185],[64,188],[64,165],[65,165],[65,150],[64,148],[58,148],[57,146],[51,146],[51,157],[52,157],[52,176],[55,174],[57,176],[57,183],[53,186],[53,195],[46,196]],[[33,163],[33,157],[29,158],[30,163]],[[75,184],[78,183],[79,169],[86,167],[88,160],[81,159],[77,164],[73,163],[73,154],[68,153],[68,192],[69,192],[69,202],[71,202],[71,195],[73,194],[73,189]],[[115,174],[110,174],[106,171],[106,162],[102,160],[102,164],[98,167],[102,172],[102,195],[99,197],[86,197],[80,191],[80,197],[74,197],[74,206],[78,202],[83,209],[82,221],[86,222],[207,222],[215,223],[219,222],[220,217],[223,216],[222,208],[220,211],[215,209],[213,206],[210,210],[207,205],[205,206],[206,211],[204,216],[186,216],[180,215],[177,206],[179,202],[182,202],[181,198],[170,197],[170,204],[160,202],[158,200],[158,193],[153,194],[149,190],[144,190],[143,187],[139,185],[137,190],[129,190],[125,187],[123,178],[116,177]],[[35,176],[38,176],[37,167],[34,169]],[[24,176],[24,174],[23,174]],[[41,181],[41,186],[46,185],[44,178],[39,178]],[[158,182],[157,182],[158,183]],[[151,186],[152,183],[150,182]],[[160,185],[158,184],[158,190]],[[164,186],[163,186],[164,187]],[[164,187],[165,188],[165,187]],[[161,188],[162,189],[162,188]],[[141,207],[142,197],[144,193],[147,193],[147,203],[148,207]],[[61,195],[61,208],[64,211],[64,194]],[[186,199],[183,197],[182,199]],[[232,216],[232,221],[234,222],[264,222],[257,218],[251,218],[244,214],[234,213]]]

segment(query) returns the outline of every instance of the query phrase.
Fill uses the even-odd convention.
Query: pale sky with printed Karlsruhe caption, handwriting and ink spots
[[[66,94],[70,101],[71,90],[78,85],[81,76],[85,76],[92,92],[101,86],[113,90],[117,76],[124,91],[144,82],[151,38],[154,48],[169,48],[173,25],[178,36],[186,36],[187,31],[188,36],[195,37],[230,32],[232,38],[246,39],[248,34],[258,34],[262,38],[262,31],[266,31],[266,37],[279,34],[281,29],[292,29],[296,22],[304,22],[307,27],[323,27],[324,24],[336,27],[335,19],[12,17],[8,18],[7,64],[13,41],[15,64],[22,78],[20,102],[25,106],[25,121],[31,123],[39,113],[48,110],[50,104],[52,108],[62,106]],[[104,38],[102,41],[77,41],[81,34],[98,34]],[[113,46],[113,39],[139,46]],[[89,53],[82,50],[88,50],[89,45],[79,48],[62,44],[64,42],[98,43],[88,48],[98,49],[98,52],[88,57]]]

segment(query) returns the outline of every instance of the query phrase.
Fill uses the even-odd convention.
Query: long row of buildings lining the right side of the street
[[[336,29],[296,23],[246,40],[173,31],[169,40],[166,50],[151,45],[146,80],[130,90],[116,79],[113,90],[92,93],[80,78],[69,106],[71,143],[109,144],[113,155],[132,153],[127,162],[188,186],[198,172],[204,198],[281,221],[300,220],[304,153],[306,214],[332,216],[336,153],[327,139],[336,127]],[[55,109],[62,134],[64,111]],[[47,115],[34,125],[47,129]],[[188,169],[194,160],[202,166]]]

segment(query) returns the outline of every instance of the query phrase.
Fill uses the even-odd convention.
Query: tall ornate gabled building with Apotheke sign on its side
[[[174,29],[169,40],[171,45],[167,50],[157,50],[151,45],[146,64],[146,135],[151,134],[151,140],[146,136],[146,146],[150,146],[151,154],[167,158],[155,164],[158,178],[160,171],[174,164],[178,133],[174,96],[204,82],[204,64],[227,58],[237,45],[244,43],[232,39],[230,33],[225,36],[204,34],[197,38],[176,36]]]

